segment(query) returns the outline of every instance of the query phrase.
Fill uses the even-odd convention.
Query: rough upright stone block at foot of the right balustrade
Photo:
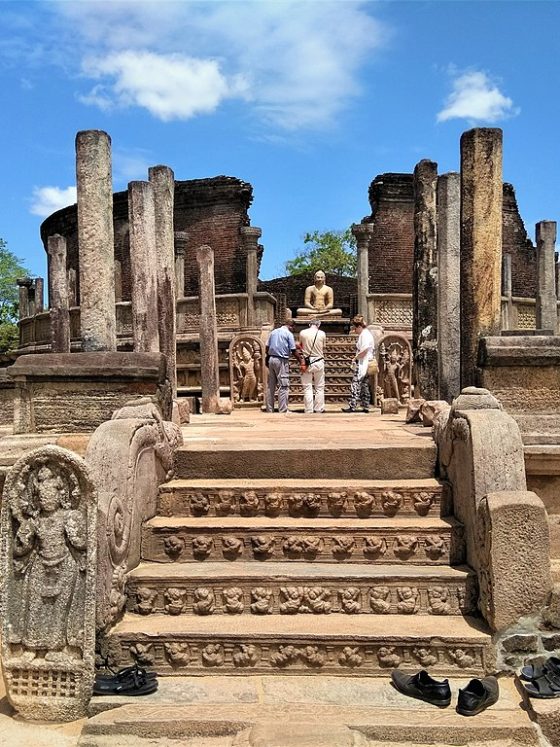
[[[548,522],[530,492],[488,493],[478,507],[481,610],[494,630],[538,613],[552,586]]]

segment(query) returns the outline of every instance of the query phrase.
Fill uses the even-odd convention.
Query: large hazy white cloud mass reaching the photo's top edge
[[[237,99],[284,130],[331,125],[361,93],[362,66],[389,37],[359,0],[55,3],[69,44],[87,48],[80,96],[163,120]],[[133,40],[133,41],[131,41]],[[81,51],[80,51],[81,53]]]

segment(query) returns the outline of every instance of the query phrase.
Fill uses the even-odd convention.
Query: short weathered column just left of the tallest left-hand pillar
[[[47,241],[49,253],[49,304],[51,353],[70,352],[70,311],[66,275],[66,239],[55,234]]]

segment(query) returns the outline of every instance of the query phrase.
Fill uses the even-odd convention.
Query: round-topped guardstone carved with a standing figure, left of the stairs
[[[22,457],[2,501],[2,669],[31,721],[84,716],[95,648],[97,496],[85,462],[57,446]]]

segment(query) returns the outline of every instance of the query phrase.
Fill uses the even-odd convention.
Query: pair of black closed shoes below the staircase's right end
[[[451,703],[449,680],[434,680],[424,669],[414,675],[406,675],[395,669],[391,673],[391,680],[403,695],[424,700],[440,708]],[[456,711],[462,716],[476,716],[494,705],[499,696],[500,689],[495,677],[472,679],[464,689],[459,689]]]

